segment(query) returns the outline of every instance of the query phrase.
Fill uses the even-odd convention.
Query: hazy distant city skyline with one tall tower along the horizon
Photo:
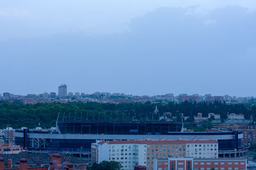
[[[27,98],[27,99],[26,99]],[[28,99],[29,98],[29,99]],[[67,93],[67,85],[63,84],[58,87],[58,95],[56,92],[44,92],[43,94],[28,94],[26,96],[10,94],[9,92],[4,92],[3,97],[0,95],[0,99],[3,100],[21,100],[22,103],[26,104],[35,104],[37,102],[40,103],[68,103],[70,101],[80,101],[83,103],[86,102],[98,102],[98,103],[134,103],[141,102],[145,103],[147,101],[150,102],[162,102],[168,103],[170,101],[174,103],[181,102],[191,102],[191,103],[199,103],[199,102],[225,102],[227,104],[230,103],[247,103],[247,102],[255,102],[256,98],[253,96],[250,97],[236,97],[236,96],[212,96],[211,94],[205,94],[204,96],[200,96],[199,94],[179,94],[179,96],[174,96],[172,93],[164,94],[164,95],[156,95],[156,96],[133,96],[131,94],[124,93],[109,93],[109,92],[95,92],[93,94],[85,94],[84,92],[68,92]],[[216,121],[218,122],[218,121]]]

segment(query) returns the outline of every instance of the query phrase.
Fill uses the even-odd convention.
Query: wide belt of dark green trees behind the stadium
[[[154,114],[157,106],[158,114]],[[58,113],[65,113],[65,119],[118,119],[118,120],[158,120],[164,112],[170,112],[180,119],[180,113],[190,117],[203,113],[207,117],[208,113],[218,113],[221,118],[227,118],[227,113],[243,113],[246,118],[256,118],[255,106],[244,106],[243,104],[225,103],[37,103],[22,104],[19,101],[6,103],[0,101],[0,128],[5,128],[8,124],[13,128],[29,127],[33,128],[40,123],[41,127],[54,127]]]

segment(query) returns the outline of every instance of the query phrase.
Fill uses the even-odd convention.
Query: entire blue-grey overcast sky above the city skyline
[[[0,93],[256,96],[256,1],[0,1]]]

